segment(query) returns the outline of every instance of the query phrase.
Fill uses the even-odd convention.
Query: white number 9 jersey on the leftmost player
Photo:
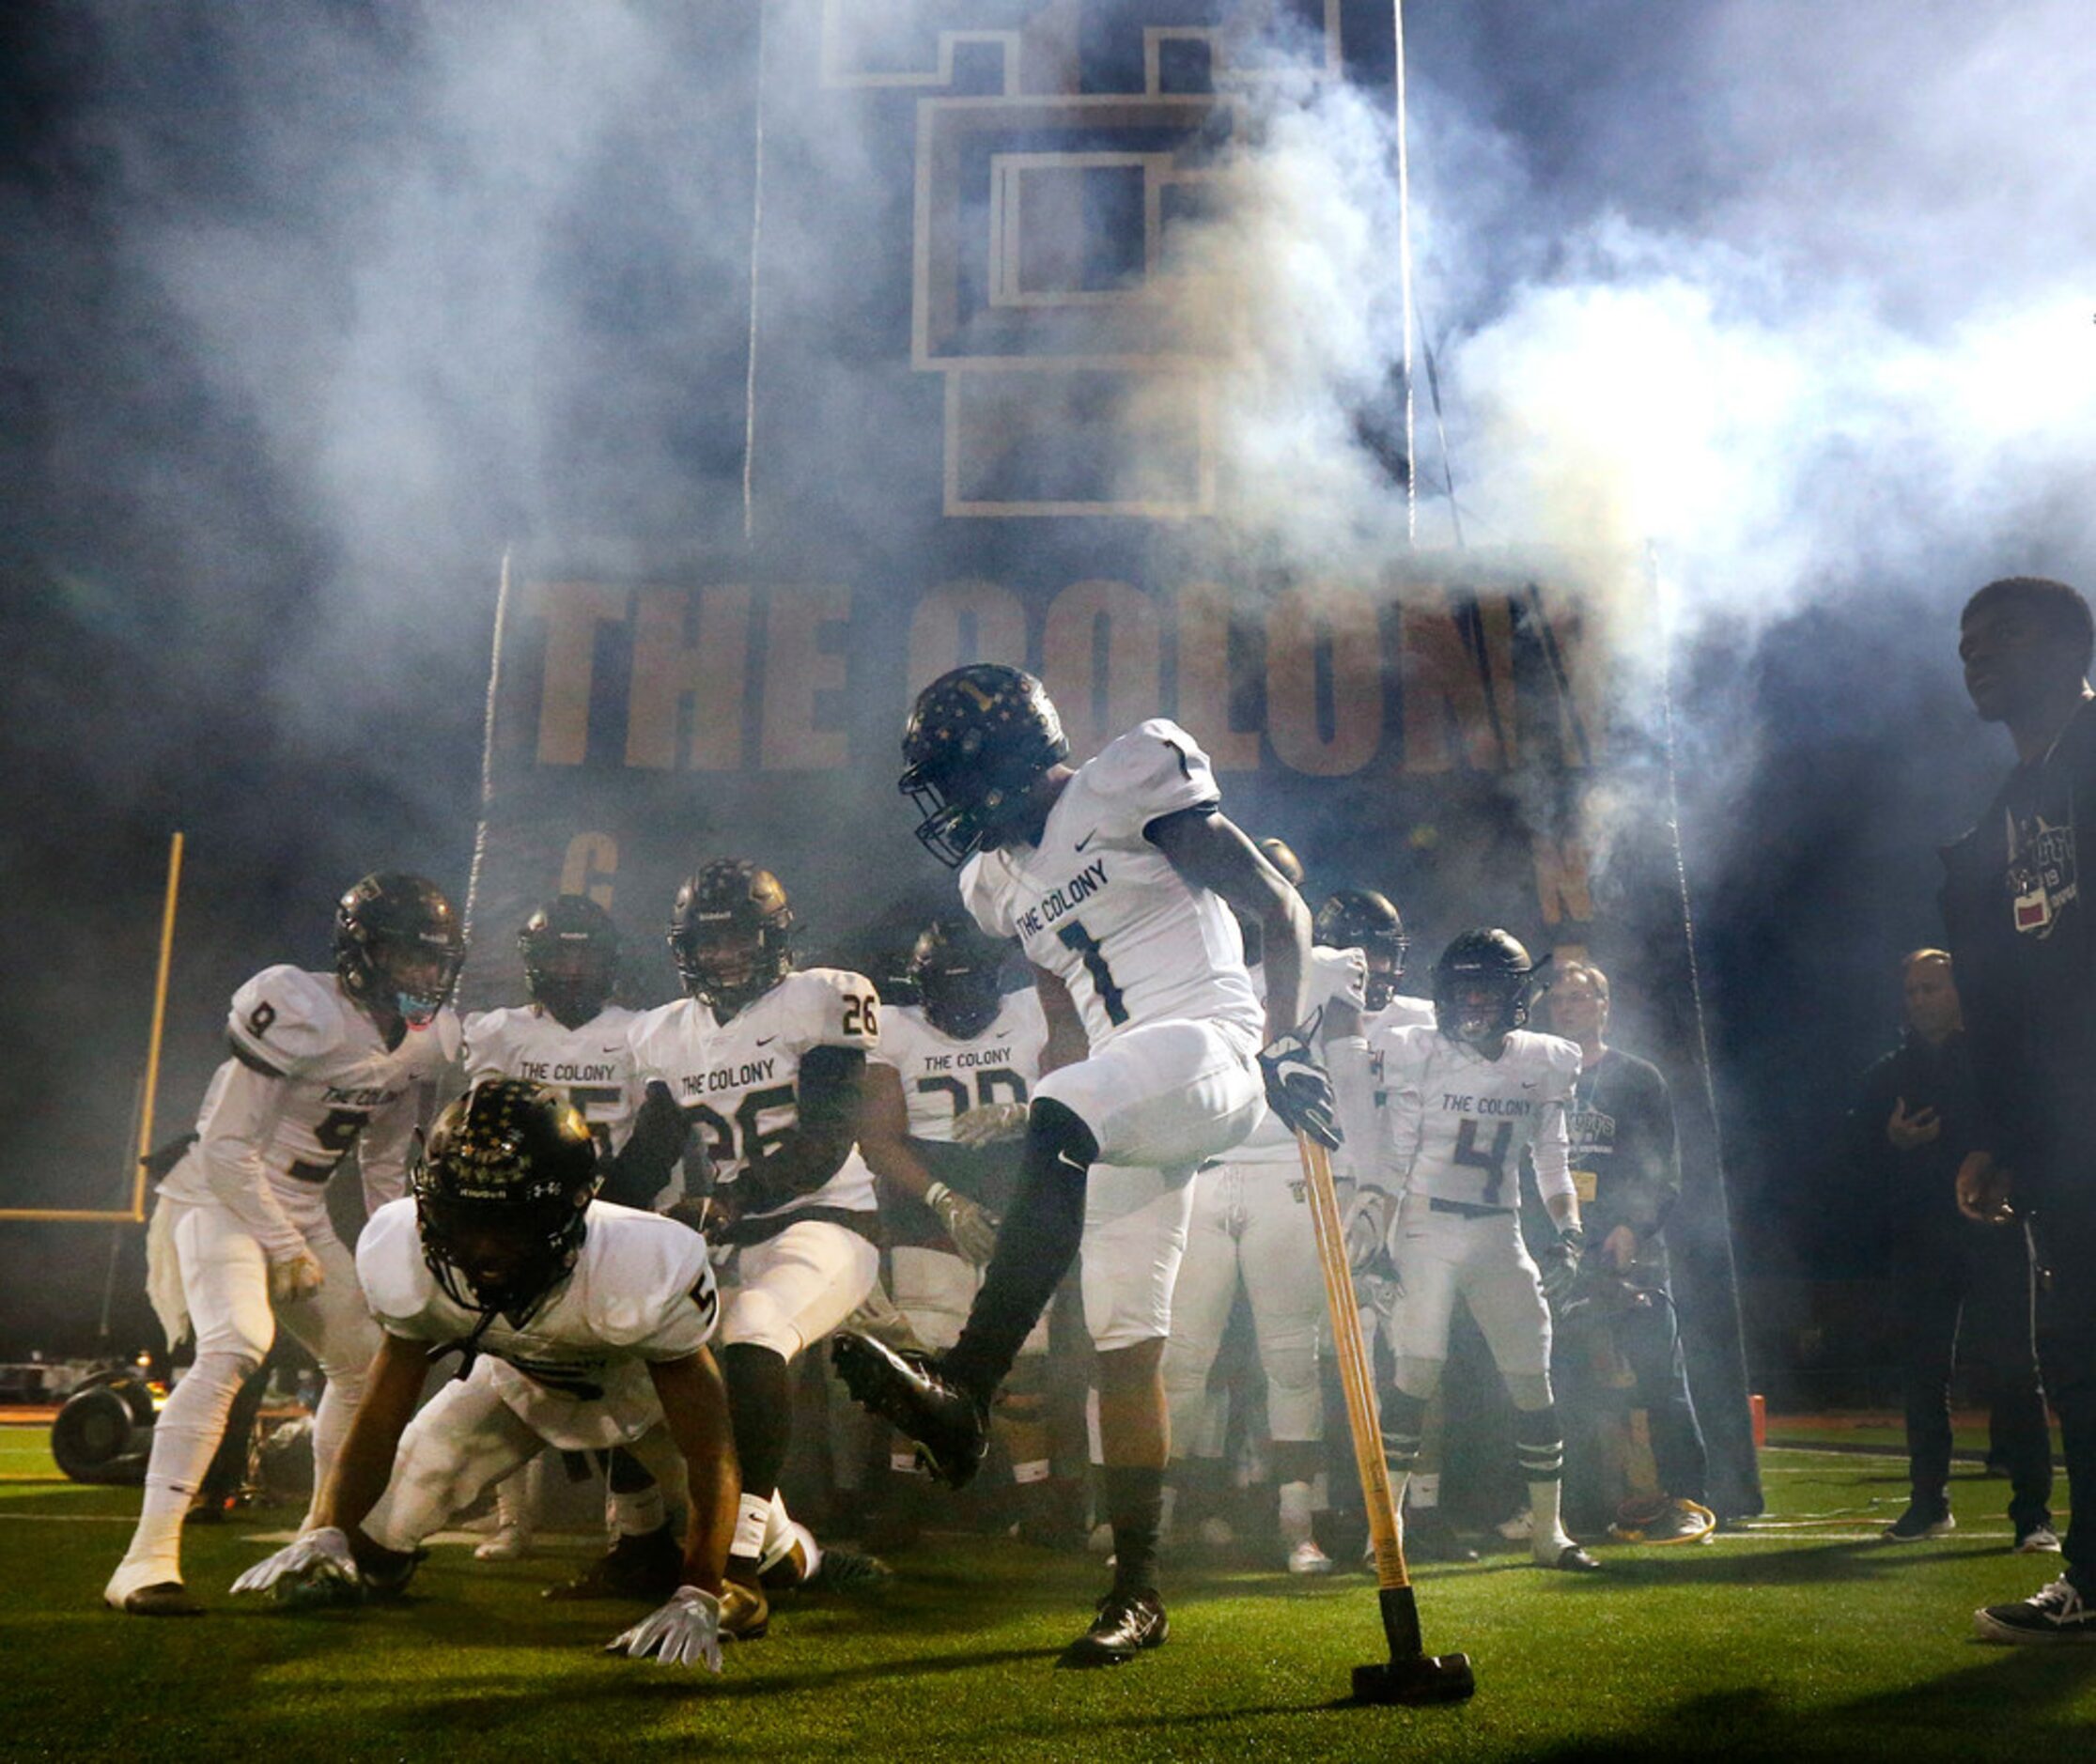
[[[451,1010],[388,1048],[333,974],[264,968],[233,995],[226,1037],[233,1060],[203,1094],[199,1135],[210,1138],[218,1098],[239,1062],[279,1081],[256,1142],[272,1188],[310,1200],[363,1142],[367,1194],[390,1200],[405,1190],[419,1092],[440,1083],[459,1058],[459,1018]],[[212,1198],[195,1146],[161,1192],[178,1200]]]

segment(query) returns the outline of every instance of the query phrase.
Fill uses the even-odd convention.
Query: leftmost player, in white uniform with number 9
[[[277,1322],[327,1379],[312,1420],[325,1481],[379,1337],[350,1253],[327,1219],[327,1182],[358,1154],[365,1203],[407,1184],[409,1138],[459,1056],[446,1010],[465,960],[451,901],[421,876],[365,876],[335,907],[335,970],[264,968],[233,995],[233,1048],[168,1171],[147,1232],[147,1288],[172,1347],[197,1362],[153,1427],[138,1529],[103,1596],[140,1617],[195,1615],[182,1586],[182,1517],[241,1383]]]

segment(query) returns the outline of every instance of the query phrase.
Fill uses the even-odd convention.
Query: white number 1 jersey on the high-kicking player
[[[1230,909],[1142,836],[1163,815],[1220,800],[1207,754],[1155,716],[1077,767],[1038,846],[977,853],[960,872],[975,922],[1017,936],[1069,987],[1094,1054],[1128,1029],[1178,1018],[1266,1039]]]

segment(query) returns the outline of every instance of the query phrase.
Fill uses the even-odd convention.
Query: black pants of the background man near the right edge
[[[1951,1366],[1962,1358],[1993,1410],[2016,1531],[2050,1525],[2052,1437],[2031,1339],[2031,1257],[2012,1226],[1966,1226],[1901,1247],[1907,1469],[1914,1498],[1949,1504]]]

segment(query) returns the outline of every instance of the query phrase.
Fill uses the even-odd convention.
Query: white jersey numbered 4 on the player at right
[[[1564,1167],[1566,1104],[1580,1062],[1572,1041],[1518,1029],[1488,1060],[1411,1024],[1379,1029],[1369,1045],[1381,1062],[1383,1188],[1518,1207],[1524,1150],[1534,1146],[1538,1169]]]

